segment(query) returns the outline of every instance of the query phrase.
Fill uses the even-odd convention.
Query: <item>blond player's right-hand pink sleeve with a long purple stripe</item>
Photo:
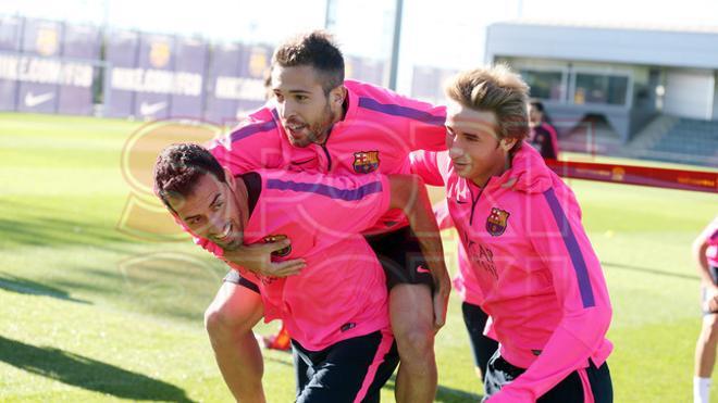
[[[552,188],[534,197],[531,241],[550,268],[564,319],[538,358],[491,402],[535,400],[584,367],[602,348],[611,319],[606,280],[581,224],[573,193]],[[594,364],[601,366],[603,362]]]

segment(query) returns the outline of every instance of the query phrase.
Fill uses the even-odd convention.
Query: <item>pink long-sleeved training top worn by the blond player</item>
[[[470,263],[465,280],[481,289],[493,319],[486,335],[528,368],[491,401],[535,401],[589,360],[601,366],[612,350],[606,281],[573,192],[541,155],[523,144],[484,188],[456,175],[446,152],[411,160],[426,184],[446,186]]]

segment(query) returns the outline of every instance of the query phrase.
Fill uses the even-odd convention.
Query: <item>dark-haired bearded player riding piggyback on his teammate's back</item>
[[[358,176],[407,174],[412,150],[446,147],[444,108],[345,80],[342,52],[321,32],[275,50],[271,86],[273,99],[212,148],[235,175],[259,167]],[[396,399],[431,402],[437,378],[434,333],[444,324],[448,273],[433,272],[426,264],[401,211],[387,212],[366,235],[391,290],[392,329],[401,357]],[[271,266],[268,256],[265,250],[244,248],[225,254],[244,267],[273,276],[299,272],[296,266]],[[236,281],[231,273],[206,313],[215,356],[233,390],[240,382],[239,367],[248,365],[234,337],[247,319],[235,301]]]

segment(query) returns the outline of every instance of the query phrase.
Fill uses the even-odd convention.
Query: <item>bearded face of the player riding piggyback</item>
[[[295,147],[324,143],[335,122],[336,113],[332,111],[320,78],[311,66],[275,65],[272,68],[272,92],[282,126]]]

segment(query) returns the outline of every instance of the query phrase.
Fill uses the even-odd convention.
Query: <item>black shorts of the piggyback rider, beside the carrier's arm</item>
[[[376,253],[386,274],[386,288],[399,284],[422,284],[434,288],[434,278],[429,270],[421,245],[410,227],[392,232],[372,235],[367,242]]]

